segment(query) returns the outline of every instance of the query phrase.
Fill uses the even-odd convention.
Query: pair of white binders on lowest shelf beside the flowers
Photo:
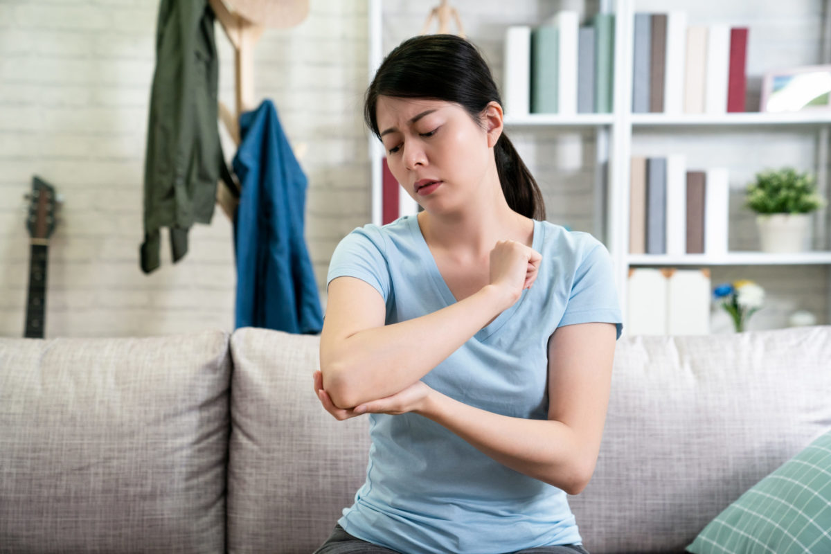
[[[631,336],[710,334],[710,287],[709,269],[630,269],[627,333]]]

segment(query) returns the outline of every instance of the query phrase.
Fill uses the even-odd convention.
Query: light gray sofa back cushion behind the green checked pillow
[[[831,326],[622,337],[597,468],[569,498],[586,547],[682,552],[831,429]]]

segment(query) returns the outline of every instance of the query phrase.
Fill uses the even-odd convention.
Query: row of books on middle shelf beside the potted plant
[[[630,253],[727,254],[727,169],[688,170],[684,154],[634,156],[631,168]]]

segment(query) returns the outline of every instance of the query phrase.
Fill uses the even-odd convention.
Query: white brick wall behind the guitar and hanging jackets
[[[147,110],[159,2],[0,0],[0,336],[22,336],[32,175],[63,196],[50,243],[47,336],[233,330],[232,227],[216,208],[189,252],[139,267]],[[217,24],[220,99],[234,106],[234,56]],[[255,97],[270,98],[293,145],[305,143],[307,243],[320,287],[337,241],[369,218],[366,2],[312,0],[307,19],[268,29]],[[223,132],[227,157],[234,145]]]

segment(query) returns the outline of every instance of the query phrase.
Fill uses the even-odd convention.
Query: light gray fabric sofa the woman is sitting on
[[[367,419],[317,402],[318,336],[0,338],[0,552],[312,552],[363,482]],[[831,429],[831,326],[622,336],[593,554],[683,552]],[[460,522],[464,524],[464,522]]]

